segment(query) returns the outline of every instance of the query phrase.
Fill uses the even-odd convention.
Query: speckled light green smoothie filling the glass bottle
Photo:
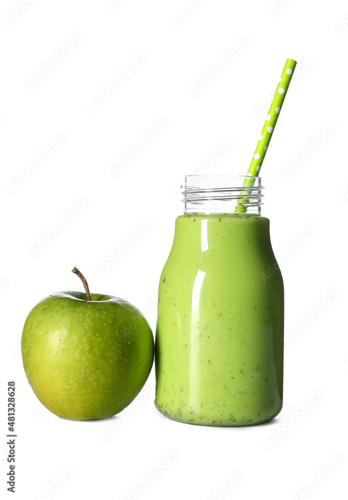
[[[157,409],[174,420],[235,426],[282,406],[283,282],[257,214],[186,213],[158,292]]]

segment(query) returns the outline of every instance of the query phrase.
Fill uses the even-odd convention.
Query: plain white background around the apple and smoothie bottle
[[[178,18],[184,1],[114,3],[36,0],[21,8],[19,1],[1,1],[1,490],[7,472],[6,384],[14,379],[18,499],[44,493],[57,500],[131,498],[147,476],[152,484],[141,492],[144,499],[344,498],[347,460],[330,465],[335,455],[348,456],[346,2],[205,0],[184,13],[184,22]],[[8,20],[11,13],[17,18]],[[180,26],[173,24],[177,19]],[[79,43],[58,56],[75,34]],[[228,51],[234,54],[230,63],[195,91]],[[146,60],[93,106],[137,54]],[[246,173],[267,114],[265,99],[287,57],[298,61],[297,70],[261,170],[262,213],[271,220],[285,282],[280,415],[249,428],[170,421],[153,405],[153,370],[132,407],[136,411],[129,407],[89,422],[45,411],[19,354],[30,308],[51,292],[80,290],[70,272],[76,265],[92,292],[134,303],[154,331],[157,283],[182,212],[177,188],[184,174],[199,167],[209,174]],[[51,59],[56,65],[30,84]],[[141,137],[153,136],[159,119],[169,124],[145,146]],[[63,143],[43,160],[56,134]],[[233,145],[209,165],[204,159],[223,140]],[[139,143],[143,150],[117,171]],[[79,200],[87,206],[77,213]],[[149,227],[98,272],[142,221]],[[60,232],[47,239],[57,225]],[[44,237],[46,243],[39,243]],[[178,456],[163,470],[169,452]],[[153,474],[157,465],[163,471]],[[74,472],[66,480],[67,467]],[[320,471],[327,467],[331,473],[323,480]],[[227,492],[233,473],[242,478]],[[55,480],[65,483],[54,493]]]

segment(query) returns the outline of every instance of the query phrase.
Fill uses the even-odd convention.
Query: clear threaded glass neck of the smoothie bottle
[[[261,213],[260,177],[186,175],[183,188],[184,213]]]

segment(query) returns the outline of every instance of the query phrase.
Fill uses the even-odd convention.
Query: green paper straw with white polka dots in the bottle
[[[286,59],[284,68],[281,73],[281,77],[276,87],[273,100],[270,104],[266,120],[264,122],[260,138],[258,139],[256,149],[252,156],[252,160],[246,175],[251,176],[250,179],[245,179],[243,186],[253,186],[254,179],[252,177],[257,177],[260,171],[262,162],[266,155],[266,151],[273,135],[274,127],[278,119],[281,106],[283,105],[289,83],[291,81],[293,71],[296,67],[297,62],[293,59]],[[241,192],[241,194],[250,194],[250,191]],[[247,203],[247,198],[242,198],[238,201],[235,207],[235,212],[245,212],[245,207],[241,203]]]

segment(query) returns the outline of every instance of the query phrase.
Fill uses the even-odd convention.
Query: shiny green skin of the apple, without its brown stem
[[[151,329],[132,304],[112,295],[53,293],[29,312],[21,352],[28,382],[52,413],[71,420],[115,415],[145,383]]]

